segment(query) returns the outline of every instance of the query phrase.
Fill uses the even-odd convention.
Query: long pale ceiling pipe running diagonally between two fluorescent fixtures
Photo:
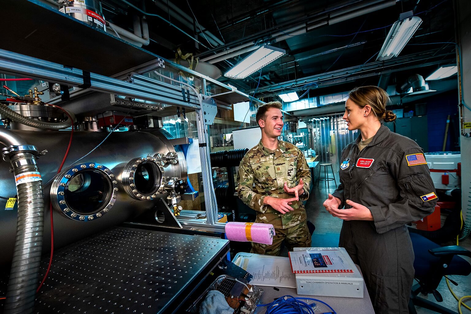
[[[373,3],[377,3],[378,0],[376,1],[373,1]],[[362,16],[362,15],[365,15],[365,14],[368,14],[368,13],[371,13],[371,12],[374,12],[374,11],[377,11],[377,10],[381,10],[383,8],[388,8],[388,7],[391,7],[393,5],[396,4],[396,0],[388,0],[386,2],[383,2],[383,3],[380,3],[380,4],[375,4],[369,8],[363,8],[363,9],[360,9],[358,11],[355,11],[355,12],[351,12],[351,13],[348,13],[350,11],[352,11],[354,8],[349,8],[348,10],[345,10],[343,12],[336,12],[336,15],[341,15],[342,13],[345,13],[347,12],[347,14],[344,14],[344,15],[341,15],[341,16],[338,16],[338,17],[335,17],[333,19],[328,19],[326,21],[322,21],[322,22],[319,22],[319,23],[316,23],[316,24],[311,24],[311,25],[307,25],[307,23],[302,23],[302,24],[298,24],[298,25],[295,25],[295,26],[292,26],[284,31],[279,31],[279,32],[274,32],[271,34],[272,38],[269,39],[268,41],[273,44],[275,42],[280,42],[282,40],[286,40],[286,39],[289,39],[293,36],[298,36],[298,35],[302,35],[302,34],[305,34],[306,32],[310,31],[310,30],[313,30],[317,27],[320,27],[320,26],[323,26],[323,25],[331,25],[331,24],[336,24],[336,23],[339,23],[339,22],[342,22],[342,21],[346,21],[350,18],[353,18],[353,17],[357,17],[357,16]],[[362,7],[364,7],[364,5],[362,5]],[[252,45],[254,43],[254,41],[250,42],[250,43],[246,43],[244,45]],[[231,48],[232,51],[237,51],[239,49],[242,48],[243,45],[240,45],[240,46],[237,46],[237,47],[234,47],[234,48]],[[249,50],[250,51],[250,50]],[[225,60],[227,58],[230,58],[232,56],[238,56],[240,54],[242,54],[243,52],[239,53],[239,54],[236,54],[236,53],[231,53],[231,54],[226,54],[225,57],[218,57],[218,54],[216,55],[213,55],[213,56],[208,56],[208,57],[205,57],[203,59],[201,59],[202,61],[209,61],[209,63],[216,63],[216,62],[219,62],[219,61],[222,61],[222,60]],[[220,55],[219,55],[220,56]],[[217,58],[218,61],[212,61],[213,59]]]

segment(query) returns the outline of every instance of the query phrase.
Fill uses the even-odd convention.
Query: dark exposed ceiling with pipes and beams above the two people
[[[191,53],[222,73],[260,45],[284,49],[244,79],[218,79],[264,101],[292,91],[305,98],[361,85],[400,86],[411,75],[426,77],[456,63],[453,0],[102,2],[107,21],[130,32],[133,17],[145,16],[150,44],[144,49],[168,59],[178,50]],[[398,57],[376,61],[391,25],[407,11],[422,18],[419,29]]]

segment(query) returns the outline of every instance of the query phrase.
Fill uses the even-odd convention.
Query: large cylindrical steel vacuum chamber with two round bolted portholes
[[[110,226],[118,225],[155,205],[160,206],[159,197],[165,198],[167,194],[164,189],[155,190],[154,181],[160,187],[163,185],[162,182],[171,178],[187,177],[183,153],[177,148],[178,146],[173,147],[170,144],[162,131],[114,132],[87,157],[74,163],[108,135],[104,132],[75,131],[69,155],[57,177],[55,177],[57,169],[69,143],[70,131],[12,132],[23,137],[29,145],[35,145],[38,151],[48,150],[48,153],[37,159],[43,180],[44,217],[46,217],[43,252],[50,250],[50,200],[53,201],[55,208],[53,209],[54,247],[59,248]],[[169,153],[170,155],[176,153],[178,162],[161,162],[159,166],[154,167],[155,161],[158,161],[153,161],[154,155]],[[134,164],[137,166],[133,168]],[[9,168],[8,162],[0,162],[0,196],[3,197],[16,195],[15,177]],[[51,180],[53,177],[55,179]],[[49,180],[51,181],[48,183]],[[125,187],[130,184],[134,184],[132,190],[130,186]],[[136,192],[132,192],[133,190]],[[145,199],[137,196],[139,191],[146,196]],[[159,195],[156,195],[157,191]],[[77,215],[73,216],[74,213]],[[1,266],[11,262],[16,219],[15,209],[0,210]]]

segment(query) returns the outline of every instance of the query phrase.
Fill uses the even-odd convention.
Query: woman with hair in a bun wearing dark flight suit
[[[414,251],[406,224],[432,213],[438,198],[422,148],[382,125],[396,119],[388,102],[376,86],[350,91],[343,119],[360,135],[344,148],[341,184],[323,205],[343,219],[339,246],[360,266],[375,313],[408,314]]]

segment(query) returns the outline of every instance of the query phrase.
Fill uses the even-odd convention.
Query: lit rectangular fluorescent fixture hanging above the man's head
[[[284,49],[263,45],[224,74],[232,79],[244,79],[253,72],[285,54]]]

